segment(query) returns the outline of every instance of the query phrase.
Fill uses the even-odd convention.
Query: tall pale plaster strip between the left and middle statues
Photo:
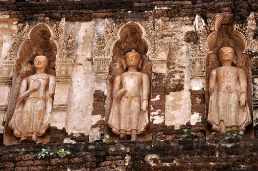
[[[71,74],[66,131],[68,134],[89,134],[94,99],[94,68],[91,62],[94,21],[70,23],[73,24],[76,29],[76,55]]]

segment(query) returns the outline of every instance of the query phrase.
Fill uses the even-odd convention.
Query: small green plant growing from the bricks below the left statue
[[[66,157],[68,154],[70,154],[70,151],[69,150],[65,150],[65,149],[60,149],[60,150],[49,150],[49,149],[41,149],[41,151],[35,153],[35,152],[30,152],[29,154],[31,155],[38,155],[39,159],[41,157],[49,157],[49,156],[52,156],[54,154],[56,154],[59,158],[64,158]]]

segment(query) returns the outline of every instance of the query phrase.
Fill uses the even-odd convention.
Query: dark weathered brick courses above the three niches
[[[195,16],[204,19],[215,13],[234,13],[234,20],[245,21],[250,11],[258,9],[257,0],[30,0],[1,1],[0,11],[27,20],[91,21],[94,18],[114,18],[116,22],[145,20],[155,7],[155,17]],[[128,11],[132,11],[128,13]]]

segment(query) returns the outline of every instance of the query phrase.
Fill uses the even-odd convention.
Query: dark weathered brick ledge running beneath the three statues
[[[69,149],[67,158],[38,159],[42,148]],[[0,147],[0,171],[256,170],[258,140],[183,140]]]

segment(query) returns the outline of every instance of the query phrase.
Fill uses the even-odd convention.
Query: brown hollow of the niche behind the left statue
[[[56,75],[55,58],[57,55],[57,44],[51,39],[51,32],[47,26],[39,24],[31,29],[29,38],[25,39],[18,49],[18,60],[12,77],[12,87],[7,108],[3,143],[18,142],[20,138],[15,137],[8,122],[12,118],[19,96],[21,82],[25,77],[35,74],[33,67],[34,58],[44,55],[48,59],[47,74]],[[50,136],[49,136],[50,138]]]

